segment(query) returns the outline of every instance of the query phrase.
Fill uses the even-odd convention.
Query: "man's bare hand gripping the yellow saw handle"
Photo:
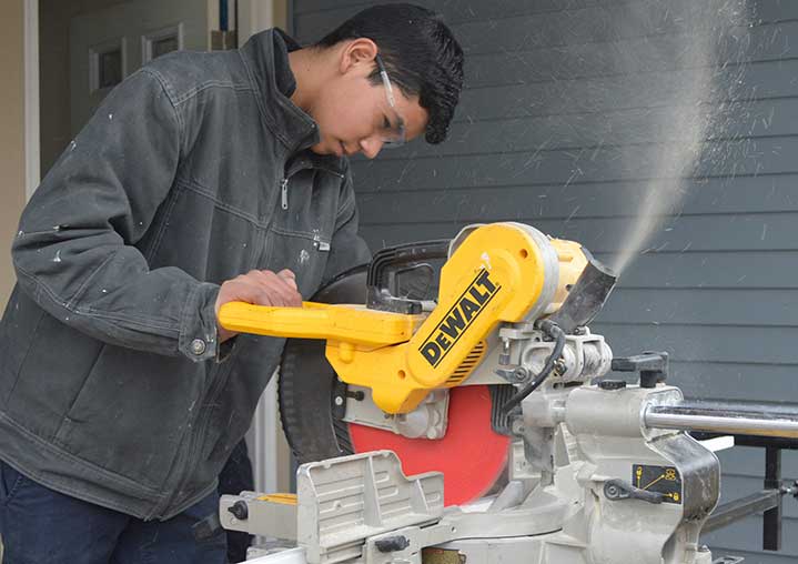
[[[302,295],[296,290],[296,276],[290,270],[281,270],[276,274],[271,270],[251,270],[222,283],[216,296],[216,316],[219,309],[228,302],[301,308]],[[216,328],[220,343],[235,335],[235,332],[220,325],[219,321]]]

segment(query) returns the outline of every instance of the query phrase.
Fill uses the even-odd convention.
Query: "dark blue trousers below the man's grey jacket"
[[[224,564],[214,492],[169,521],[142,521],[54,492],[0,461],[3,564]]]

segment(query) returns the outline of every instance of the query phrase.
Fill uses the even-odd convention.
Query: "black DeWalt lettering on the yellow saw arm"
[[[491,280],[488,271],[479,271],[418,349],[433,367],[446,357],[465,330],[479,316],[501,289],[501,285]]]

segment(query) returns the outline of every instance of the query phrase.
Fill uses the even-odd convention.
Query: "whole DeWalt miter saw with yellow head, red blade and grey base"
[[[614,359],[587,326],[614,284],[579,244],[494,223],[384,250],[301,309],[225,304],[226,329],[291,338],[303,464],[297,496],[223,496],[223,526],[295,541],[271,563],[709,564],[718,460],[684,430],[797,417],[689,406],[667,354]],[[610,366],[639,383],[593,384]]]

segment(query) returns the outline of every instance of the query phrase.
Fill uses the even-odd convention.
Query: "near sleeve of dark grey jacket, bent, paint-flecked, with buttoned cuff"
[[[63,323],[107,343],[194,361],[216,353],[219,286],[150,269],[134,246],[184,151],[165,83],[143,69],[117,87],[22,212],[19,285]]]

